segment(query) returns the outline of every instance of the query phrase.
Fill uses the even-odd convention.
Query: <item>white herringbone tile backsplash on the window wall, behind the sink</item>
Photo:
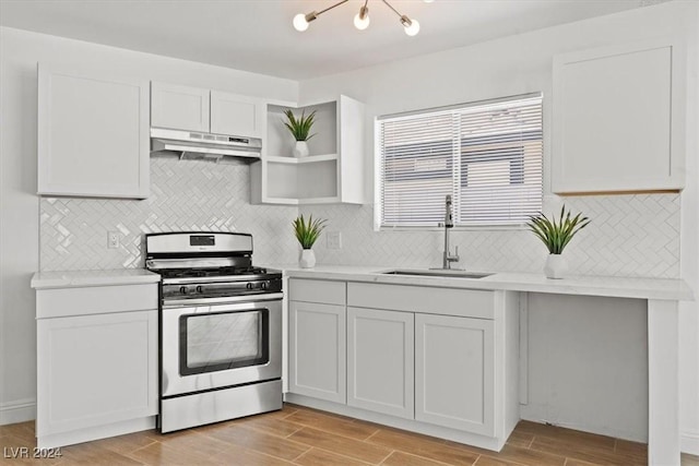
[[[566,206],[592,223],[566,249],[571,273],[678,277],[678,194],[590,195],[565,198]],[[553,204],[549,202],[549,204]],[[544,212],[559,212],[560,205]],[[443,232],[374,231],[374,206],[304,206],[301,213],[328,219],[342,232],[342,249],[313,248],[319,263],[347,265],[440,266]],[[471,271],[541,272],[546,248],[526,229],[453,230],[460,267]],[[453,251],[453,250],[452,250]]]

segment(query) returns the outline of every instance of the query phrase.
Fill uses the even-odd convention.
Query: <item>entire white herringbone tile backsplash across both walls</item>
[[[143,201],[44,198],[40,201],[40,270],[105,270],[143,266],[143,234],[245,231],[253,236],[257,264],[295,263],[298,244],[292,206],[250,205],[249,167],[151,158],[151,196]],[[578,274],[677,277],[679,195],[633,194],[565,198],[592,223],[566,249]],[[548,201],[548,214],[558,211]],[[312,205],[300,213],[327,218],[342,232],[340,250],[324,236],[313,248],[320,264],[439,266],[443,236],[438,229],[374,231],[372,205]],[[107,231],[120,247],[107,249]],[[472,271],[541,272],[546,250],[530,231],[454,230],[459,266]]]

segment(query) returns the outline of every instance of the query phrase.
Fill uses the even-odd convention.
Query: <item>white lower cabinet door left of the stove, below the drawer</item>
[[[36,433],[157,414],[157,310],[37,321]]]

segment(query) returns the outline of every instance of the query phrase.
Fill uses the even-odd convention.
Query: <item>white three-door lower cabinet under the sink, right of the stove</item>
[[[288,292],[287,401],[502,449],[519,421],[518,292],[308,278]]]

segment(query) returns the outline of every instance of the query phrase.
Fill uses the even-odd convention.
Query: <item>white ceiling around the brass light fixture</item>
[[[663,0],[369,0],[371,24],[353,26],[350,0],[296,32],[296,13],[335,0],[0,0],[0,25],[303,80],[465,46]]]

